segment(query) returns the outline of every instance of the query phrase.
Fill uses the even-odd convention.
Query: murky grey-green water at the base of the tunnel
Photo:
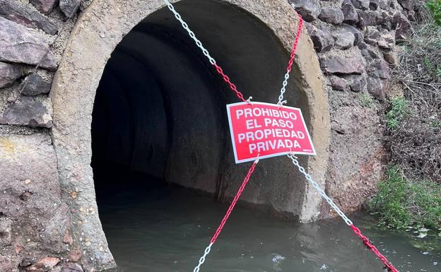
[[[169,187],[112,194],[100,200],[100,217],[117,271],[193,271],[226,208],[204,194]],[[369,216],[352,218],[399,271],[441,271],[440,252],[430,244],[413,246],[437,238],[382,230]],[[384,269],[342,220],[296,225],[237,207],[201,271]]]

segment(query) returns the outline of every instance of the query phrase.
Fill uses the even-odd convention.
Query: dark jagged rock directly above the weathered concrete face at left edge
[[[17,124],[30,127],[52,127],[52,107],[47,102],[34,101],[32,97],[21,97],[6,108],[0,124]]]

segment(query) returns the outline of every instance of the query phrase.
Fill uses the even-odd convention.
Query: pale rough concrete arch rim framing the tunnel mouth
[[[197,4],[196,0],[177,2],[178,5],[181,2],[182,5],[186,2]],[[298,17],[287,1],[215,2],[246,11],[257,23],[263,23],[271,30],[282,47],[286,50],[290,49],[298,25]],[[82,13],[81,18],[78,18],[54,78],[51,91],[54,107],[52,139],[57,153],[62,195],[71,208],[73,238],[75,244],[83,249],[83,260],[85,260],[83,265],[86,269],[100,270],[114,266],[98,217],[93,173],[90,167],[92,155],[90,124],[95,90],[98,88],[107,60],[124,35],[164,6],[163,1],[160,0],[93,1]],[[305,105],[301,106],[309,117],[308,124],[317,150],[317,156],[305,158],[305,163],[317,182],[324,187],[330,134],[327,93],[324,90],[322,72],[312,42],[306,35],[306,30],[302,31],[291,84],[295,84],[298,94],[302,95],[302,103]],[[274,97],[276,97],[278,86],[274,88]],[[319,196],[304,180],[292,180],[293,175],[290,172],[293,168],[290,168],[288,160],[281,165],[278,164],[279,160],[277,164],[271,163],[268,169],[278,172],[285,182],[302,184],[298,193],[301,199],[295,200],[295,207],[293,207],[293,199],[278,203],[266,203],[265,200],[257,203],[269,204],[281,213],[297,215],[300,220],[312,220],[317,217],[321,203]],[[237,166],[237,171],[243,172],[246,167],[246,165]],[[277,185],[282,187],[283,183]],[[281,190],[283,189],[278,189]]]

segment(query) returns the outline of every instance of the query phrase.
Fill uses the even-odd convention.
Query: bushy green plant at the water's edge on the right
[[[397,229],[440,226],[440,184],[411,182],[396,166],[389,167],[386,176],[387,179],[378,184],[378,193],[368,205],[382,225]]]

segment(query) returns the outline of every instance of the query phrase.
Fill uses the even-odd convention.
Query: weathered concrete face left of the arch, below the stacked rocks
[[[0,135],[0,189],[1,271],[16,271],[16,261],[33,263],[42,252],[66,252],[69,208],[49,135]]]

